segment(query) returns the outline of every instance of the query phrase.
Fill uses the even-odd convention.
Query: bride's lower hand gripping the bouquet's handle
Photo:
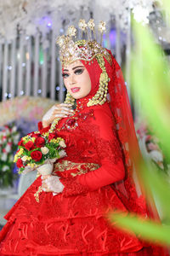
[[[45,192],[53,192],[59,194],[63,191],[65,186],[59,181],[58,176],[42,175],[42,189]]]

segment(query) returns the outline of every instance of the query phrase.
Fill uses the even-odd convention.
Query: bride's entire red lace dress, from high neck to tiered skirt
[[[61,119],[56,128],[67,145],[67,156],[55,165],[63,193],[42,192],[37,202],[42,183],[37,177],[5,216],[0,255],[163,255],[106,218],[110,210],[128,208],[111,185],[125,176],[122,150],[109,103],[87,108],[87,100],[79,100],[75,115]],[[139,202],[133,207],[144,212]]]

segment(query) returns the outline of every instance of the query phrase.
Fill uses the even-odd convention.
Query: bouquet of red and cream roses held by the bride
[[[31,132],[21,138],[18,145],[19,150],[14,155],[14,162],[19,168],[19,173],[33,171],[45,164],[53,166],[55,160],[66,155],[63,149],[66,147],[65,140],[57,137],[56,133]]]

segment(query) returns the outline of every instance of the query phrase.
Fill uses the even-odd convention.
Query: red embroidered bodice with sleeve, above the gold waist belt
[[[76,113],[61,119],[56,131],[66,143],[67,156],[59,162],[68,160],[99,165],[94,171],[74,177],[75,184],[94,190],[121,180],[124,177],[124,166],[109,102],[90,108],[87,107],[87,102],[88,97],[78,100]],[[45,129],[47,131],[47,128]],[[61,181],[65,184],[66,192],[69,184],[65,183],[64,179]],[[69,190],[71,191],[71,188]]]

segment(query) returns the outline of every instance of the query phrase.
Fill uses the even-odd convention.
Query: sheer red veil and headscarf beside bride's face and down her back
[[[108,50],[111,54],[111,51]],[[127,96],[127,88],[122,76],[121,67],[111,54],[112,64],[104,57],[105,69],[109,75],[110,82],[108,84],[111,113],[114,117],[116,134],[122,146],[124,166],[126,167],[125,178],[117,183],[112,184],[112,188],[116,191],[123,204],[129,212],[136,212],[143,216],[153,216],[153,209],[149,213],[149,206],[146,207],[144,200],[144,191],[141,193],[139,184],[139,165],[143,162],[139,150],[139,143],[136,137],[133,115],[131,112],[130,102]],[[90,62],[82,61],[83,65],[88,69],[88,73],[92,82],[92,90],[88,95],[94,96],[99,90],[99,77],[101,68],[96,59]],[[152,203],[152,205],[154,205]],[[158,218],[154,208],[155,217]]]

